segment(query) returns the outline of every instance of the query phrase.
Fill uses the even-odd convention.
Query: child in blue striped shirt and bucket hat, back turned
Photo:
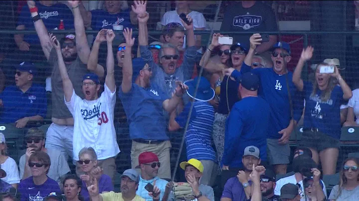
[[[196,85],[199,86],[196,92]],[[215,167],[216,155],[212,142],[212,131],[214,121],[214,108],[208,101],[214,97],[214,90],[209,81],[204,77],[196,77],[184,82],[188,86],[187,95],[191,98],[181,113],[173,111],[170,116],[169,130],[174,131],[184,128],[189,116],[189,110],[193,109],[189,116],[188,128],[185,133],[187,160],[194,158],[199,160],[204,167],[200,184],[211,186],[215,178],[213,169]],[[195,96],[195,97],[194,97]],[[213,175],[213,177],[212,177]]]

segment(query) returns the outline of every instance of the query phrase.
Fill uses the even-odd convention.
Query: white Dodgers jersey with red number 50
[[[65,104],[74,117],[73,159],[84,147],[95,149],[97,159],[104,160],[120,153],[114,126],[116,90],[111,92],[105,84],[105,91],[94,101],[82,100],[73,91],[71,100]]]

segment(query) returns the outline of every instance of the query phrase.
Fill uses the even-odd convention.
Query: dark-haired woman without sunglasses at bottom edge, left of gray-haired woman
[[[82,189],[82,181],[76,175],[65,177],[62,182],[66,201],[85,201],[80,195]]]

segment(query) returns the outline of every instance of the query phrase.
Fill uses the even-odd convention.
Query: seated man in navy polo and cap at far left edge
[[[45,88],[33,84],[35,65],[22,62],[16,67],[16,86],[6,87],[0,94],[0,123],[15,123],[23,128],[28,121],[41,121],[46,115]]]

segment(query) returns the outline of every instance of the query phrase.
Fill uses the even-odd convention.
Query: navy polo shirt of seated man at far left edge
[[[0,94],[0,100],[3,104],[0,108],[0,123],[14,123],[23,117],[46,115],[46,92],[40,85],[32,84],[25,93],[16,86],[6,87]]]

